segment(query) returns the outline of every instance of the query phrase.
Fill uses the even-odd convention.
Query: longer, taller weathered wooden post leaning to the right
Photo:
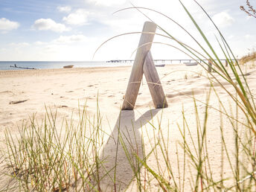
[[[141,33],[141,39],[138,43],[138,50],[132,66],[131,76],[129,77],[129,83],[127,86],[127,92],[124,97],[122,110],[132,110],[135,106],[135,101],[138,96],[138,90],[141,86],[141,79],[143,76],[144,60],[148,51],[150,51],[151,42],[153,42],[155,35],[154,33],[156,33],[156,24],[153,22],[145,22]],[[145,45],[146,43],[148,44]]]

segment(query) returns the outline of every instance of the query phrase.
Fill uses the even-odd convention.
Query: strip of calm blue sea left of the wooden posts
[[[0,61],[0,70],[21,70],[22,68],[13,68],[10,66],[25,67],[25,68],[63,68],[65,65],[74,65],[74,68],[84,67],[115,67],[132,65],[132,63],[107,63],[105,61]]]

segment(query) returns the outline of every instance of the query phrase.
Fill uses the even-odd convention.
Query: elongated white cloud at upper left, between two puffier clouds
[[[63,31],[70,31],[70,29],[66,28],[65,25],[54,22],[52,19],[37,19],[33,24],[33,28],[37,30],[54,31],[59,33],[62,33]]]

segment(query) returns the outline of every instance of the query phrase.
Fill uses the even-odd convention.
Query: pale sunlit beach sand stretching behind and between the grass
[[[86,103],[89,115],[97,112],[97,100],[100,105],[100,114],[103,116],[103,127],[106,132],[117,136],[118,117],[123,102],[123,97],[127,89],[131,67],[113,67],[113,68],[65,68],[48,70],[21,70],[21,71],[0,71],[0,147],[4,149],[4,129],[18,133],[18,127],[22,121],[36,113],[37,119],[42,119],[45,115],[45,107],[58,111],[62,117],[71,117],[71,113],[77,112],[79,107],[83,108]],[[179,161],[182,162],[183,151],[179,147],[176,151],[176,145],[182,141],[178,125],[182,127],[182,112],[191,128],[191,135],[196,135],[196,117],[193,97],[197,100],[197,109],[199,118],[203,121],[205,114],[205,100],[210,88],[208,78],[204,77],[204,69],[200,66],[166,65],[157,68],[164,93],[167,96],[169,107],[166,109],[154,109],[153,101],[147,87],[146,80],[143,79],[141,89],[133,111],[121,112],[121,129],[132,131],[132,125],[135,127],[135,135],[138,140],[141,138],[141,132],[147,130],[148,135],[144,135],[146,151],[150,151],[150,141],[153,139],[153,127],[149,122],[154,123],[156,127],[161,121],[161,130],[164,137],[170,138],[170,161],[173,164],[173,172],[178,178],[178,167],[176,153],[180,154]],[[256,72],[253,68],[246,68],[246,78],[249,81],[252,92],[256,92]],[[232,90],[227,83],[224,83],[228,90]],[[220,88],[215,87],[220,100],[225,103],[228,111],[231,103],[230,97]],[[202,101],[202,102],[199,102]],[[211,95],[208,118],[208,156],[211,160],[211,167],[214,170],[214,176],[220,177],[220,112],[218,98]],[[216,109],[214,109],[216,108]],[[77,117],[74,115],[74,120]],[[224,134],[228,148],[234,150],[233,130],[226,118],[223,119],[225,125]],[[142,127],[141,127],[142,126]],[[183,128],[182,128],[183,129]],[[209,136],[210,135],[210,136]],[[134,140],[134,138],[132,138]],[[132,140],[132,141],[133,141]],[[104,156],[109,157],[106,162],[109,167],[115,160],[115,143],[106,138],[104,147]],[[159,161],[163,161],[159,157]],[[156,167],[156,161],[152,159],[150,165]],[[228,168],[228,162],[225,161],[225,174],[231,173]],[[2,167],[2,171],[4,167]],[[183,169],[183,168],[182,168]],[[181,170],[182,171],[182,170]],[[188,174],[189,176],[189,174]],[[121,189],[132,179],[132,170],[125,157],[124,151],[118,151],[117,178]],[[1,188],[7,185],[8,179],[1,179]],[[105,181],[105,185],[108,182]],[[133,187],[132,187],[133,186]],[[185,191],[190,191],[189,179],[186,181]],[[131,185],[129,190],[135,187]],[[155,186],[157,187],[157,185]]]

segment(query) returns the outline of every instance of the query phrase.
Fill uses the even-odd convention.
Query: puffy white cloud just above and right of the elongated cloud
[[[89,12],[84,9],[76,10],[63,18],[63,21],[69,25],[86,25],[88,24]]]

